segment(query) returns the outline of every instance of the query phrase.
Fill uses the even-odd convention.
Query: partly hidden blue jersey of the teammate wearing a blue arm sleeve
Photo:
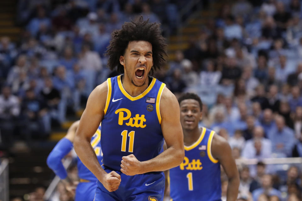
[[[91,138],[91,145],[95,151],[95,154],[97,155],[98,162],[102,165],[102,159],[103,159],[103,153],[101,149],[101,126],[98,127],[98,130],[94,133],[94,135]],[[82,163],[82,161],[78,157],[77,161],[78,166],[78,174],[80,179],[85,179],[88,181],[97,181],[97,178],[92,174],[92,172]]]

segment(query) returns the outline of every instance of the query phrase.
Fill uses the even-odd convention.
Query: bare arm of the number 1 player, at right
[[[224,138],[215,134],[212,140],[211,152],[213,157],[219,160],[228,177],[226,200],[235,201],[238,196],[240,179],[235,159],[232,156],[232,149]]]

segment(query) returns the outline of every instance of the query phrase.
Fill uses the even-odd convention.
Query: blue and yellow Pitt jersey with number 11
[[[103,164],[120,170],[122,156],[145,161],[159,155],[164,139],[159,102],[165,84],[149,77],[148,88],[136,97],[122,86],[121,75],[108,78],[108,94],[102,120]]]

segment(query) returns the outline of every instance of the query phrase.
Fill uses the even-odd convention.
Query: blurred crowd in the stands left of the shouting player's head
[[[46,139],[66,115],[85,107],[105,68],[111,32],[140,15],[176,29],[181,1],[19,0],[19,41],[0,38],[2,146],[16,137]]]

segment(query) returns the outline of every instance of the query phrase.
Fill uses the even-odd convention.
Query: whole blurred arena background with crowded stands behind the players
[[[197,93],[204,102],[200,125],[229,141],[239,197],[253,200],[255,189],[273,187],[279,200],[301,200],[301,6],[299,0],[1,0],[0,200],[73,200],[46,158],[81,117],[92,89],[117,75],[103,55],[110,33],[140,15],[160,22],[168,43],[167,65],[153,76],[176,96]],[[73,182],[75,161],[74,152],[64,160]]]

